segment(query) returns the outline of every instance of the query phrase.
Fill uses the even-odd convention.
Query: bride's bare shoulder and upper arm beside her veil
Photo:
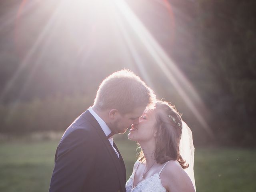
[[[171,192],[195,192],[194,186],[186,172],[176,161],[166,164],[161,175],[161,182]]]

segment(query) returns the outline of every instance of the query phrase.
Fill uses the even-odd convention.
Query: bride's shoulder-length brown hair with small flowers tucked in
[[[156,150],[154,152],[157,163],[163,164],[169,160],[177,160],[182,168],[188,164],[180,155],[180,138],[182,134],[182,119],[174,106],[165,101],[157,101],[155,105]],[[140,151],[139,161],[145,156]]]

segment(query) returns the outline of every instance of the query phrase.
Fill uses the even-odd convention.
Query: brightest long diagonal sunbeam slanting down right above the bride
[[[177,92],[180,94],[184,102],[187,104],[188,108],[190,108],[190,110],[193,112],[198,122],[200,122],[208,135],[211,138],[214,138],[214,134],[210,126],[204,120],[204,118],[190,99],[190,96],[192,95],[197,99],[197,102],[200,102],[201,105],[203,104],[192,84],[190,84],[190,82],[174,64],[174,62],[172,62],[172,60],[164,52],[162,47],[158,44],[158,42],[156,42],[154,37],[150,34],[150,32],[148,32],[148,30],[144,27],[142,22],[140,22],[134,12],[132,12],[126,2],[124,0],[119,0],[116,1],[116,5],[120,9],[120,13],[123,15],[125,20],[139,37],[140,41],[144,44],[145,48],[148,50],[156,64],[158,64],[158,66],[162,69],[162,72],[164,72],[170,83],[172,83],[172,85],[176,88]],[[170,71],[169,68],[172,71]],[[182,82],[182,84],[180,84],[180,82]],[[189,88],[186,89],[187,91],[189,91],[189,93],[186,93],[183,87]]]

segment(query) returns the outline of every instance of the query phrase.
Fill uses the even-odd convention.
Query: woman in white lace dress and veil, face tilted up
[[[157,101],[134,122],[128,138],[141,152],[126,192],[195,192],[192,133],[174,106]]]

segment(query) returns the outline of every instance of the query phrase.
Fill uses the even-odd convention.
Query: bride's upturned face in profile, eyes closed
[[[154,139],[154,136],[156,135],[156,130],[154,129],[155,123],[155,110],[146,109],[138,122],[132,124],[128,138],[137,142]]]

